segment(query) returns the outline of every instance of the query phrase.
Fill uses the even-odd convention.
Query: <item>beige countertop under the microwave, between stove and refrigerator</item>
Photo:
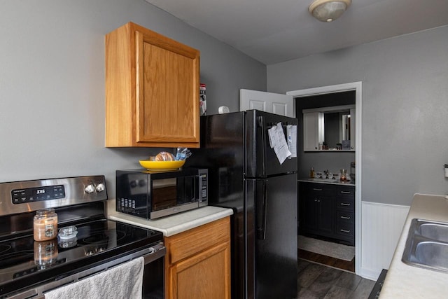
[[[116,211],[115,200],[108,200],[107,208],[107,218],[141,226],[150,230],[158,230],[163,232],[165,237],[179,234],[179,232],[185,232],[186,230],[196,228],[200,225],[204,225],[233,214],[232,209],[207,206],[193,209],[191,211],[184,211],[172,216],[148,220]]]

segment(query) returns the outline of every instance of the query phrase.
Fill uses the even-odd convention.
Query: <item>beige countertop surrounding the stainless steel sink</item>
[[[414,195],[380,299],[448,298],[448,273],[414,267],[401,261],[413,218],[448,222],[448,200],[444,195]]]

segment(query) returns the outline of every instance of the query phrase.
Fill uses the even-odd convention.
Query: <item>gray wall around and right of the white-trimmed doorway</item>
[[[267,91],[363,82],[362,200],[447,194],[448,26],[267,67]]]

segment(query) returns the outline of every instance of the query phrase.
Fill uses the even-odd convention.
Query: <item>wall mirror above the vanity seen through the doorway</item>
[[[304,109],[304,151],[354,151],[355,106]]]

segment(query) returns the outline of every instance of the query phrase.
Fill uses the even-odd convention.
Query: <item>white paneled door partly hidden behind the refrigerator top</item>
[[[258,90],[239,90],[239,111],[257,109],[282,116],[295,117],[292,95],[262,92]]]

